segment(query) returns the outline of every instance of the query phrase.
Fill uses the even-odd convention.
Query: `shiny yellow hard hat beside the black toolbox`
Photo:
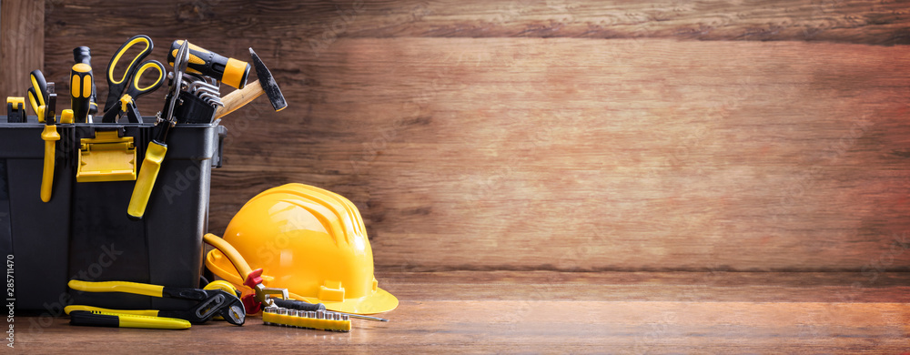
[[[371,314],[398,307],[373,277],[373,251],[357,207],[334,192],[303,184],[269,188],[250,199],[227,225],[225,241],[269,288],[326,309]],[[217,249],[206,266],[242,288],[243,279]]]

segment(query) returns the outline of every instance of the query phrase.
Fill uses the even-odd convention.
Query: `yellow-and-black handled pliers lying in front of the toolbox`
[[[66,314],[70,314],[70,312],[74,311],[88,311],[93,313],[77,313],[78,317],[72,319],[74,321],[73,324],[75,325],[115,326],[114,324],[99,324],[99,321],[91,321],[93,316],[97,320],[110,316],[122,316],[118,326],[129,328],[162,328],[156,325],[160,325],[163,320],[170,319],[186,320],[189,323],[197,324],[204,323],[216,316],[220,316],[227,320],[228,323],[238,326],[243,325],[246,320],[246,309],[244,309],[243,303],[238,299],[237,294],[227,292],[223,287],[211,289],[208,287],[206,287],[206,289],[180,289],[136,282],[88,282],[71,279],[69,280],[69,288],[86,292],[124,292],[151,297],[199,301],[195,306],[186,310],[102,309],[81,305],[66,306],[64,309]],[[152,320],[143,322],[142,318],[151,318]],[[130,322],[125,322],[125,320],[130,320]],[[82,324],[77,324],[76,321],[81,322]],[[138,326],[129,325],[136,322],[139,323]]]

